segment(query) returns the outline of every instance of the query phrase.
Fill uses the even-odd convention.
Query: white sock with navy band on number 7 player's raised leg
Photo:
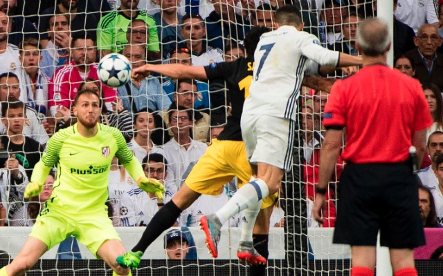
[[[269,195],[269,188],[262,179],[254,179],[244,184],[237,193],[215,213],[223,225],[230,217],[237,215],[257,201]]]

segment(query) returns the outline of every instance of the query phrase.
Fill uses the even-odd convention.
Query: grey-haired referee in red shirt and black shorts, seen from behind
[[[314,217],[323,222],[325,192],[346,128],[342,156],[347,165],[341,175],[334,243],[350,244],[353,276],[374,275],[379,230],[381,246],[390,248],[395,276],[417,275],[413,248],[425,243],[417,208],[416,162],[409,149],[415,146],[420,164],[426,128],[433,121],[420,83],[387,66],[390,46],[386,23],[377,18],[359,23],[356,48],[363,68],[336,81],[323,115],[327,133]]]

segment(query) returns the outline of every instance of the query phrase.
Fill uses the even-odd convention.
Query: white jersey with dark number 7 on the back
[[[254,75],[243,114],[296,119],[297,99],[309,60],[337,66],[339,53],[320,46],[313,34],[291,26],[266,32],[255,50]]]

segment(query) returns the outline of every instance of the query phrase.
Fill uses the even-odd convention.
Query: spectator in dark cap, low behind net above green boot
[[[188,228],[183,227],[182,229],[187,231],[172,229],[165,234],[166,255],[168,255],[168,259],[190,259],[188,255],[195,255],[192,259],[197,259],[197,253],[192,254],[192,249],[195,251],[195,248],[192,248],[193,245],[195,246],[192,235]]]

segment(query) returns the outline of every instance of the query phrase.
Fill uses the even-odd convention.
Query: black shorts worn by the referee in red
[[[408,163],[347,164],[338,188],[334,244],[415,248],[425,244],[418,180]]]

